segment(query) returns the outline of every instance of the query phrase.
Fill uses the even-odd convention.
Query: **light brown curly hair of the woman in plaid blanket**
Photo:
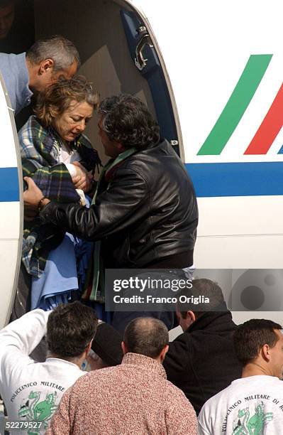
[[[96,109],[99,104],[99,94],[83,75],[71,79],[61,78],[40,94],[35,106],[35,115],[43,127],[52,125],[55,117],[65,112],[72,101],[87,102]]]

